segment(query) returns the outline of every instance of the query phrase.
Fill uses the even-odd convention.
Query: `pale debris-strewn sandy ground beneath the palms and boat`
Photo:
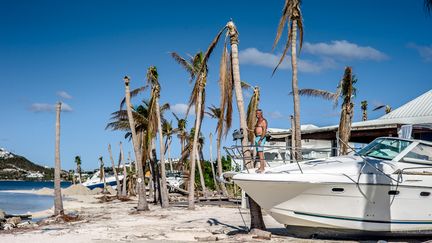
[[[197,205],[195,210],[187,210],[184,206],[161,209],[151,204],[150,211],[137,213],[134,210],[136,199],[101,203],[97,197],[100,195],[70,195],[64,201],[66,213],[78,213],[82,217],[80,221],[3,231],[0,242],[191,242],[196,241],[195,237],[207,236],[217,236],[222,242],[342,242],[290,237],[283,226],[268,215],[264,220],[272,239],[253,239],[245,233],[249,210],[235,205]],[[50,209],[33,215],[46,217],[52,212]]]

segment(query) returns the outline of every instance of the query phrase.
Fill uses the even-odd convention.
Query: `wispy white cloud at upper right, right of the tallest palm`
[[[303,45],[303,51],[317,56],[345,58],[350,60],[374,60],[388,59],[383,52],[370,46],[359,46],[346,40],[335,40],[331,43],[309,43]]]

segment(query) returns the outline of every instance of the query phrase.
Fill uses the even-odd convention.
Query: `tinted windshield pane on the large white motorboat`
[[[378,159],[392,160],[412,142],[393,138],[377,138],[358,154]]]

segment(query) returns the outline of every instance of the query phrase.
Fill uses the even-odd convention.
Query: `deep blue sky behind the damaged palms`
[[[63,168],[73,168],[76,155],[85,169],[95,168],[99,156],[108,159],[108,143],[114,154],[120,141],[131,151],[121,132],[104,129],[124,94],[122,77],[130,75],[132,87],[138,87],[146,69],[157,66],[162,102],[184,112],[192,86],[168,53],[205,50],[230,18],[240,33],[242,80],[261,87],[260,106],[270,127],[288,128],[290,64],[271,77],[286,39],[271,51],[282,7],[281,0],[0,1],[0,147],[52,166],[52,106],[62,101]],[[362,100],[371,108],[396,108],[431,89],[432,16],[425,14],[422,0],[304,1],[302,11],[301,88],[334,90],[344,67],[352,66],[358,78],[355,120],[361,117]],[[210,60],[207,106],[219,102],[220,53],[221,45]],[[370,111],[370,118],[380,115]],[[301,99],[303,124],[332,125],[338,116],[330,102]],[[189,128],[193,120],[190,116]],[[203,133],[214,126],[206,117]],[[230,137],[225,143],[231,143]],[[174,156],[177,144],[175,139]]]

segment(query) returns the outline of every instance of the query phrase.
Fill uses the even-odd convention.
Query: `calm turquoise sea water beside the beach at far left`
[[[62,187],[70,186],[62,182]],[[17,193],[14,190],[37,190],[44,187],[54,188],[52,181],[0,181],[0,209],[8,214],[26,214],[51,208],[53,196]]]

